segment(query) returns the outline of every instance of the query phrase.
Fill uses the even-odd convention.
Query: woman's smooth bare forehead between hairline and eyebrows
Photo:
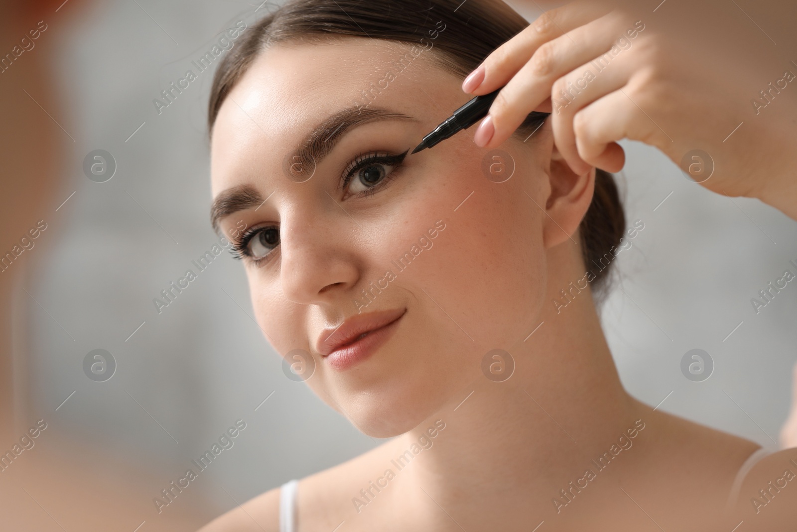
[[[468,98],[432,53],[419,45],[351,37],[281,43],[260,53],[218,112],[213,194],[240,184],[227,171],[234,161],[281,165],[316,125],[343,108],[391,108],[434,127]]]

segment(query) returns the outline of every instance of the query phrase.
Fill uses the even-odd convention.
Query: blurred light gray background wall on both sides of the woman
[[[72,152],[60,194],[69,200],[45,220],[47,256],[27,287],[41,304],[25,303],[29,409],[76,447],[135,464],[145,505],[245,420],[234,447],[175,502],[204,520],[377,444],[285,378],[230,254],[162,313],[152,303],[217,240],[205,125],[212,71],[161,114],[152,100],[222,31],[274,4],[116,0],[84,6],[68,24],[48,20],[64,41],[53,66],[75,142],[65,134]],[[797,285],[758,314],[750,300],[794,270],[797,223],[757,200],[705,191],[653,148],[622,145],[627,218],[645,224],[618,256],[602,313],[623,383],[651,406],[776,447],[797,360]],[[82,170],[95,149],[116,159],[106,183]],[[696,348],[716,366],[703,382],[681,373],[681,357]],[[92,349],[116,358],[111,380],[84,375]]]

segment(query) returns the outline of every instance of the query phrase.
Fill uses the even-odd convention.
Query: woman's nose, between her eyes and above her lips
[[[280,280],[285,297],[303,305],[322,305],[355,286],[358,228],[323,209],[283,215],[280,223]]]

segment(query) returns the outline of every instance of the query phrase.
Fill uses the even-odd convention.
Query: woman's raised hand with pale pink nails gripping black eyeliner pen
[[[506,85],[477,144],[493,148],[529,112],[551,111],[579,175],[619,171],[616,141],[640,140],[709,190],[797,219],[794,2],[645,3],[573,2],[490,54],[463,84],[474,95]]]

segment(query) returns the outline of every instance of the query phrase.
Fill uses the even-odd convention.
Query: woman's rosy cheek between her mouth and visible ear
[[[486,353],[508,349],[531,332],[544,303],[546,270],[544,214],[526,194],[533,195],[538,177],[518,167],[511,179],[494,183],[482,175],[482,155],[463,151],[449,178],[427,191],[425,214],[407,217],[418,235],[438,219],[446,229],[431,239],[418,269],[398,282],[428,303],[427,312],[440,318],[437,326]]]

